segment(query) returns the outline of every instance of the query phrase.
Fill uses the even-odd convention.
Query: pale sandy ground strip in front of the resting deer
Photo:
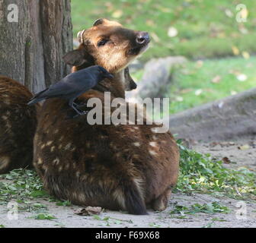
[[[220,201],[222,205],[226,205],[232,210],[231,213],[196,213],[194,215],[188,214],[185,219],[179,219],[178,216],[171,217],[170,211],[174,209],[175,204],[181,204],[189,207],[191,204],[208,204],[213,201]],[[33,213],[19,213],[18,220],[8,220],[6,217],[6,208],[0,207],[0,221],[3,226],[7,228],[22,227],[22,228],[37,228],[37,227],[153,227],[153,228],[187,228],[187,227],[255,227],[256,226],[256,204],[246,203],[247,219],[238,216],[237,200],[229,198],[211,197],[206,194],[193,194],[187,196],[185,194],[174,194],[170,200],[167,210],[162,213],[155,213],[149,211],[147,216],[133,216],[127,213],[120,213],[114,211],[106,211],[101,213],[99,217],[94,216],[78,216],[75,215],[74,210],[78,207],[58,207],[56,204],[51,204],[46,201],[40,203],[46,204],[49,213],[54,215],[56,219],[52,220],[37,220],[29,219]],[[2,219],[1,219],[2,218]]]

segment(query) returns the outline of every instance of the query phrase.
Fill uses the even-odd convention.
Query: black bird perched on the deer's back
[[[95,87],[101,80],[104,80],[104,78],[113,77],[114,76],[105,68],[98,65],[84,68],[67,75],[56,84],[52,84],[46,90],[37,93],[32,99],[30,99],[30,102],[27,103],[27,105],[31,106],[43,99],[59,97],[62,99],[68,99],[69,106],[71,106],[78,115],[84,115],[85,112],[79,111],[77,108],[78,105],[74,103],[75,99],[82,95],[82,93],[91,90],[91,88]]]

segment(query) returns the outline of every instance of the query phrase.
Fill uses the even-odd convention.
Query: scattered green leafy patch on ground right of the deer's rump
[[[222,161],[188,150],[178,140],[181,151],[180,176],[175,191],[200,192],[239,200],[256,199],[256,174],[242,167],[227,169]]]

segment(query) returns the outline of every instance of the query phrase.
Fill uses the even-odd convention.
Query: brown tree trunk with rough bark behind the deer
[[[69,73],[70,11],[70,0],[0,0],[0,74],[36,93]]]

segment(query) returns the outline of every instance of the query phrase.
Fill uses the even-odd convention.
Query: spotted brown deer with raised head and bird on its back
[[[114,74],[103,81],[111,99],[124,98],[125,68],[147,49],[149,34],[100,19],[78,39],[78,49],[64,57],[72,71],[101,65]],[[99,90],[82,94],[78,103],[95,97],[104,104]],[[165,210],[178,178],[179,152],[171,133],[156,133],[155,124],[89,125],[86,116],[66,119],[67,107],[62,99],[47,100],[34,138],[34,167],[50,194],[140,215],[147,207]]]

